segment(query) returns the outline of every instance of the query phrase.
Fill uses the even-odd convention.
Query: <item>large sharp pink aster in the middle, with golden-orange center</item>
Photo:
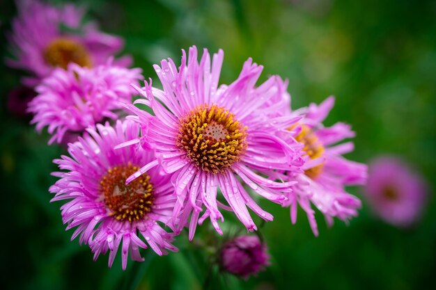
[[[150,106],[155,115],[129,106],[137,114],[132,118],[142,124],[143,136],[125,145],[150,145],[156,150],[157,161],[144,164],[127,182],[157,164],[171,173],[178,196],[173,218],[187,220],[191,216],[189,239],[193,238],[197,223],[203,223],[205,218],[210,218],[222,234],[217,223],[224,221],[220,208],[232,210],[249,231],[255,230],[256,225],[247,207],[260,218],[272,220],[272,215],[256,204],[242,184],[281,204],[286,200],[284,193],[295,182],[274,182],[259,175],[256,169],[293,172],[302,165],[299,145],[286,143],[274,134],[286,131],[299,118],[275,118],[268,115],[266,106],[286,90],[286,85],[278,76],[271,76],[256,87],[263,67],[249,59],[236,81],[218,88],[223,58],[224,53],[219,50],[211,62],[205,50],[198,63],[197,49],[191,47],[188,59],[183,51],[179,69],[171,58],[162,61],[161,67],[155,65],[155,71],[164,90],[146,83],[145,88],[137,88],[146,99],[135,102]],[[219,201],[218,188],[228,205]],[[201,211],[203,216],[199,218]]]

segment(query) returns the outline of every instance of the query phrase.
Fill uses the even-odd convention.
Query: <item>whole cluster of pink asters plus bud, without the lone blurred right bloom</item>
[[[67,200],[63,223],[95,259],[109,252],[111,266],[120,248],[125,269],[129,253],[142,261],[140,248],[176,251],[174,237],[187,227],[194,239],[206,220],[223,234],[223,210],[254,232],[256,220],[273,220],[262,200],[290,207],[293,223],[302,207],[316,235],[311,204],[329,225],[357,216],[360,200],[345,186],[364,184],[366,166],[342,156],[353,150],[339,143],[355,136],[347,124],[322,124],[333,97],[292,111],[288,81],[259,84],[263,67],[249,58],[238,78],[219,83],[224,52],[205,49],[198,60],[196,47],[182,51],[180,67],[171,58],[154,66],[162,89],[151,79],[140,87],[141,70],[114,61],[123,41],[82,25],[83,9],[18,8],[9,63],[32,74],[23,80],[37,93],[31,123],[47,127],[49,143],[68,143],[49,191],[52,201]],[[221,268],[242,277],[269,264],[257,236],[221,254]]]

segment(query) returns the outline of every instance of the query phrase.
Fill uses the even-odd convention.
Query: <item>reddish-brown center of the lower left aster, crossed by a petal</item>
[[[151,211],[155,197],[150,176],[144,173],[130,184],[125,179],[137,172],[137,166],[116,166],[107,171],[100,181],[104,203],[117,220],[139,220]]]

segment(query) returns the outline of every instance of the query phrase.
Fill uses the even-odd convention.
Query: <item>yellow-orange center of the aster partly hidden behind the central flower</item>
[[[304,124],[301,125],[302,131],[295,137],[300,143],[304,144],[303,150],[306,152],[306,155],[309,156],[310,159],[317,159],[324,153],[324,147],[318,141],[318,136],[312,131],[312,129]],[[313,168],[309,168],[304,170],[304,173],[311,177],[311,179],[315,179],[322,173],[322,168],[324,164],[320,164]]]

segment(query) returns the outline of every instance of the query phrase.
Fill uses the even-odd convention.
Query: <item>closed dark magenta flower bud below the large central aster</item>
[[[238,236],[224,244],[219,254],[221,271],[247,279],[270,265],[267,246],[258,236]]]

